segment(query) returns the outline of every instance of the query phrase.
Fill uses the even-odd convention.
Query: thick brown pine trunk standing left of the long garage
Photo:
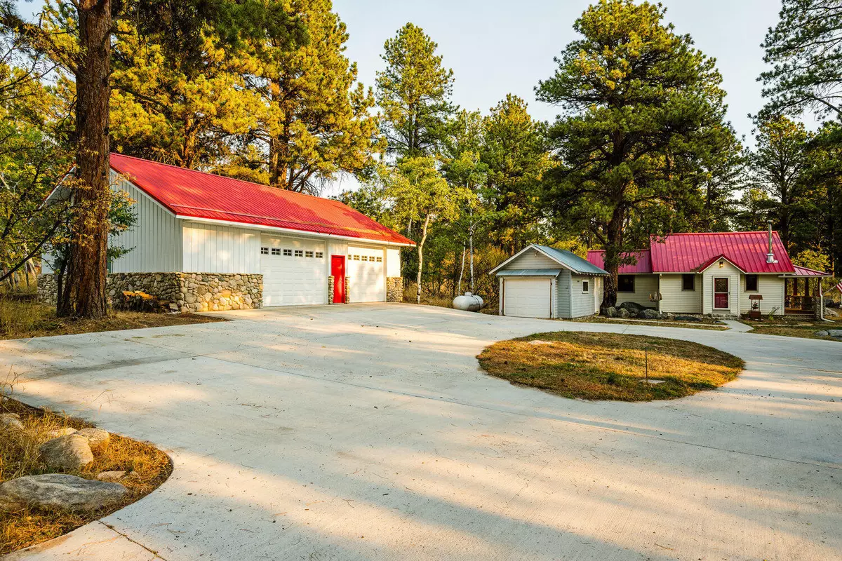
[[[80,61],[76,73],[76,182],[70,263],[59,315],[100,318],[108,313],[110,0],[78,3]]]

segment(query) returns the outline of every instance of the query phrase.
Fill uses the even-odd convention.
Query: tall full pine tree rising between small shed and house
[[[550,131],[559,166],[546,204],[557,222],[605,249],[602,308],[616,304],[617,270],[648,234],[685,225],[701,193],[688,177],[724,125],[722,77],[665,9],[600,0],[573,28],[538,97],[562,107]]]

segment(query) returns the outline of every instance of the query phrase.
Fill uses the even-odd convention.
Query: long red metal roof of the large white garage
[[[185,218],[415,245],[365,214],[330,198],[120,154],[111,154],[111,167],[170,212]]]

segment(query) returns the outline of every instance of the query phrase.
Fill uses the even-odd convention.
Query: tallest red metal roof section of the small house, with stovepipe
[[[793,273],[789,255],[777,232],[772,233],[776,263],[766,262],[769,234],[759,232],[714,232],[670,234],[650,240],[653,273],[696,273],[718,257],[745,273]]]

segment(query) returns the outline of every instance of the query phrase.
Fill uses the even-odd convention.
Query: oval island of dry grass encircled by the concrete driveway
[[[650,379],[645,382],[646,352]],[[558,331],[499,341],[480,366],[498,378],[584,400],[674,400],[737,378],[743,360],[690,341]]]

